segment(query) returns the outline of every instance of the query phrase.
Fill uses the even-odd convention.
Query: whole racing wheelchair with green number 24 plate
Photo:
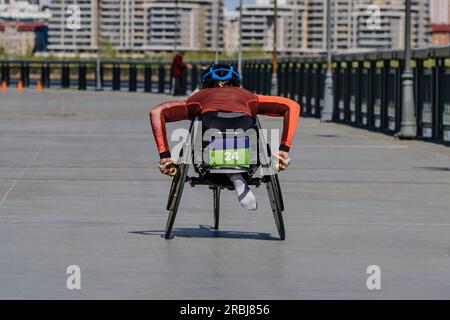
[[[254,123],[250,128],[244,128],[246,129],[245,132],[237,130],[231,133],[231,138],[228,130],[227,132],[207,130],[209,132],[206,135],[207,138],[205,138],[202,119],[197,116],[191,122],[188,138],[183,142],[180,151],[176,173],[173,176],[167,201],[169,215],[165,230],[166,239],[171,238],[186,182],[191,187],[203,185],[212,190],[214,229],[218,230],[220,194],[222,190],[234,190],[234,186],[227,176],[232,173],[242,174],[249,186],[259,187],[263,183],[266,185],[280,239],[285,239],[284,203],[277,170],[274,167],[270,146],[264,134],[262,134],[259,119],[257,117],[253,119]],[[200,135],[202,137],[199,139]],[[231,148],[223,147],[227,143],[228,146],[231,145]],[[198,145],[201,145],[201,152],[195,152]],[[205,161],[205,158],[209,158],[209,161]],[[193,165],[194,176],[188,176],[190,164]]]

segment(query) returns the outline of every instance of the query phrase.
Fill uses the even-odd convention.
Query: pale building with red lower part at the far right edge
[[[431,33],[433,45],[450,44],[450,1],[431,0]]]

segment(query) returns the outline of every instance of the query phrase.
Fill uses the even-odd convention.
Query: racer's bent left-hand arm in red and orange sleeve
[[[165,102],[156,106],[150,112],[153,136],[161,159],[171,157],[167,141],[166,122],[188,120],[190,118],[186,101]]]

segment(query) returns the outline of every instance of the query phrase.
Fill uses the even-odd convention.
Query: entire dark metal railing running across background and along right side
[[[450,47],[413,50],[417,138],[450,144]],[[333,120],[393,134],[401,122],[402,51],[333,56]],[[234,63],[234,61],[229,61]],[[209,62],[192,63],[184,89],[195,90]],[[8,86],[95,90],[95,61],[0,61],[1,81]],[[103,90],[170,93],[170,63],[103,61]],[[243,86],[270,94],[272,61],[246,60]],[[320,118],[326,57],[279,59],[278,94],[302,105],[302,115]]]

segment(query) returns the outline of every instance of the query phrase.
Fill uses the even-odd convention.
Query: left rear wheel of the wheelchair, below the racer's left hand
[[[165,238],[170,239],[173,224],[178,212],[178,206],[180,205],[181,196],[183,194],[184,184],[186,182],[186,175],[189,169],[189,165],[182,163],[178,166],[178,172],[173,177],[172,186],[170,188],[171,196],[169,195],[169,217],[167,218]]]

